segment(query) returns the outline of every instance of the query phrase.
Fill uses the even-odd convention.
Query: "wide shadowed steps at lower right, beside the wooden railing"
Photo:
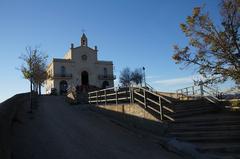
[[[176,101],[167,134],[199,147],[200,152],[240,157],[240,112],[205,99]]]

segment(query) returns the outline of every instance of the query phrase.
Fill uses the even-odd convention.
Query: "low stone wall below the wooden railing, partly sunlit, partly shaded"
[[[168,125],[137,104],[95,105],[96,110],[120,125],[165,136]]]

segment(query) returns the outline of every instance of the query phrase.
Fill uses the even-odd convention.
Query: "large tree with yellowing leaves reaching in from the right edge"
[[[204,7],[193,9],[181,30],[189,39],[186,47],[174,46],[177,64],[195,66],[207,83],[231,79],[240,84],[240,0],[222,0],[221,24],[214,24]]]

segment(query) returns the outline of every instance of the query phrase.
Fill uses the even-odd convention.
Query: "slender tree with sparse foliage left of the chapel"
[[[22,54],[19,58],[23,60],[24,64],[20,67],[20,70],[25,79],[30,81],[30,91],[33,90],[41,93],[41,85],[47,78],[46,62],[47,57],[40,51],[39,48],[26,47],[25,54]]]

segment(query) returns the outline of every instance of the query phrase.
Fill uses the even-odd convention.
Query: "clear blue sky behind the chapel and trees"
[[[171,60],[173,45],[187,40],[179,24],[192,8],[206,4],[219,20],[219,0],[0,0],[0,102],[29,89],[16,68],[26,46],[61,58],[80,43],[82,29],[99,59],[112,60],[115,74],[129,66],[146,67],[147,82],[161,91],[191,85],[194,71]]]

